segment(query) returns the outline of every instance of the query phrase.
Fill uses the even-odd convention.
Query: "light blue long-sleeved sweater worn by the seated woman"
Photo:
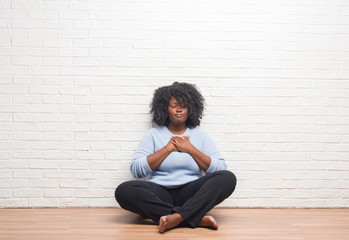
[[[183,135],[174,135],[166,126],[150,129],[143,137],[131,162],[131,173],[135,178],[173,188],[194,181],[204,175],[195,160],[185,152],[172,152],[154,171],[149,167],[147,156],[167,145],[172,136],[190,136],[190,142],[198,150],[211,157],[205,173],[225,170],[227,165],[210,136],[200,128],[187,128]]]

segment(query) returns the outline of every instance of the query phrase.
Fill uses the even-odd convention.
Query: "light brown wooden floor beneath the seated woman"
[[[348,240],[349,209],[214,209],[217,231],[176,228],[164,234],[119,208],[0,209],[0,239]]]

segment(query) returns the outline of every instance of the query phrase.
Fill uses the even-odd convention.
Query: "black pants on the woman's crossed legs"
[[[233,193],[235,186],[235,175],[223,170],[178,188],[144,180],[127,181],[116,188],[115,199],[122,208],[157,224],[161,216],[179,213],[185,219],[183,225],[196,227],[208,211]]]

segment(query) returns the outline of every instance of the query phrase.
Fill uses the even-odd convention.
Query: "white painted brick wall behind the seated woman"
[[[0,207],[117,206],[155,88],[195,83],[230,207],[349,207],[347,0],[0,1]]]

